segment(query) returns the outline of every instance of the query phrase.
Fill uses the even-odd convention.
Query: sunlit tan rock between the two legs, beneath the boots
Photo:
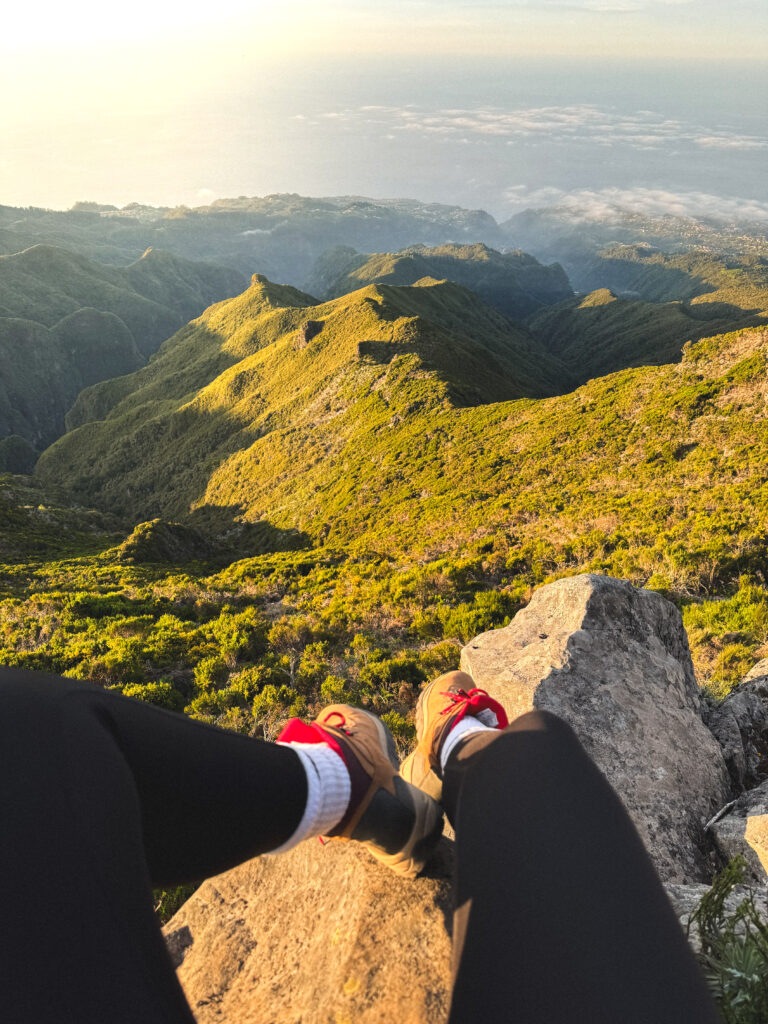
[[[165,929],[199,1024],[440,1024],[451,856],[443,840],[409,882],[355,844],[307,842],[204,883]]]

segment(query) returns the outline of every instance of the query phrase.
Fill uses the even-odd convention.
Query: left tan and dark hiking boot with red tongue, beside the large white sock
[[[344,760],[349,805],[328,839],[355,840],[397,874],[415,878],[442,835],[442,808],[397,774],[392,734],[376,715],[332,705],[311,725],[294,719],[283,742],[325,742]]]

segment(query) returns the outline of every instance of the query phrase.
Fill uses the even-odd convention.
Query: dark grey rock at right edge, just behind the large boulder
[[[768,676],[755,669],[706,716],[736,792],[756,785],[768,768]]]

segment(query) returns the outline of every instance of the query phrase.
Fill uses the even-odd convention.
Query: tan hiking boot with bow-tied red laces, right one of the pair
[[[445,737],[466,717],[504,729],[507,713],[466,672],[447,672],[427,683],[416,705],[418,745],[400,765],[400,775],[434,800],[442,797],[440,750]]]

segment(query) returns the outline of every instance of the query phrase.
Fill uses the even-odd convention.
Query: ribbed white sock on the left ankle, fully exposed
[[[280,743],[295,751],[306,772],[306,807],[296,831],[270,853],[285,853],[313,836],[330,833],[344,817],[352,785],[341,757],[328,743]]]

